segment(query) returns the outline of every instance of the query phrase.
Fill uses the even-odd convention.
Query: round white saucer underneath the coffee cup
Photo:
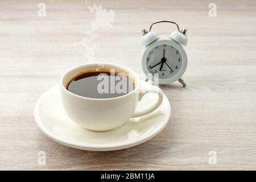
[[[148,83],[142,81],[141,84]],[[49,138],[81,150],[111,151],[136,146],[158,134],[167,125],[171,115],[170,102],[164,96],[162,105],[151,114],[129,119],[124,125],[110,131],[89,131],[67,117],[59,93],[59,85],[56,85],[39,98],[34,110],[35,121]],[[154,102],[155,97],[155,94],[147,94],[137,108]]]

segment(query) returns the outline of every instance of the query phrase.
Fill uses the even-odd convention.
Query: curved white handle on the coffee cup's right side
[[[151,105],[151,106],[146,107],[145,109],[142,109],[142,110],[139,110],[139,111],[135,111],[135,113],[131,116],[131,118],[142,117],[143,115],[150,114],[150,113],[152,113],[152,111],[158,109],[158,107],[162,104],[162,102],[163,102],[163,91],[158,86],[152,85],[150,87],[140,88],[140,90],[139,90],[139,101],[141,101],[142,98],[147,93],[158,94],[158,100],[155,102],[154,105]]]

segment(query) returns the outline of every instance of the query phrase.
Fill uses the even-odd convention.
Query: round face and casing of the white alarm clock
[[[142,67],[145,73],[158,73],[160,84],[169,84],[178,80],[185,72],[187,55],[173,40],[157,40],[144,51]]]

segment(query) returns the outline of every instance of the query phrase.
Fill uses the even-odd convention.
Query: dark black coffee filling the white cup
[[[73,78],[67,89],[82,97],[114,98],[133,91],[134,83],[123,73],[88,72]]]

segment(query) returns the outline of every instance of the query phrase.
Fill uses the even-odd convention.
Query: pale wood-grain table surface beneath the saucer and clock
[[[38,15],[40,2],[46,16]],[[0,169],[256,169],[256,2],[214,1],[213,17],[210,2],[1,1]],[[187,87],[160,86],[172,106],[160,134],[125,150],[92,152],[40,131],[35,103],[64,71],[101,60],[143,73],[141,29],[163,19],[187,28],[189,43]]]

